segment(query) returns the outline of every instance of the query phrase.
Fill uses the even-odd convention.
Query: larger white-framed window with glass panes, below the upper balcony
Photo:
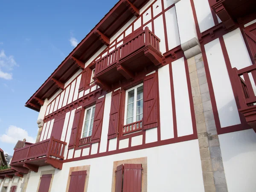
[[[140,121],[143,118],[143,84],[126,91],[124,125]]]

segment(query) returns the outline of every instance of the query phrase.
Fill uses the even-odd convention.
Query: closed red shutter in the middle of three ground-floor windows
[[[84,192],[86,171],[72,172],[68,192]]]

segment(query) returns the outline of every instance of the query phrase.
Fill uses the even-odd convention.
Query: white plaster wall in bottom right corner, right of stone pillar
[[[221,154],[229,192],[255,192],[256,134],[253,129],[221,134]]]

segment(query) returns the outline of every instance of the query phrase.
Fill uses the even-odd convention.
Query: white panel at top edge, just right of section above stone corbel
[[[215,26],[208,0],[194,0],[194,4],[200,31]]]

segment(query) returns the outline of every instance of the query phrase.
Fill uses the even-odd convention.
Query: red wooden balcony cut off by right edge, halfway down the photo
[[[256,132],[256,65],[245,67],[241,70],[233,68],[234,83],[236,84],[236,97],[239,100],[239,112],[247,123]],[[254,87],[254,90],[253,90]]]

